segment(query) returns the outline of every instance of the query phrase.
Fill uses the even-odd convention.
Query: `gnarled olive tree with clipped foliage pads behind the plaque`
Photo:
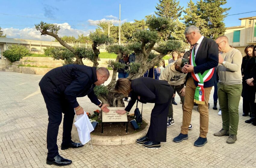
[[[126,46],[113,44],[108,45],[106,48],[108,52],[117,54],[117,58],[115,61],[112,60],[108,62],[108,66],[113,68],[111,82],[107,86],[101,85],[95,87],[95,95],[97,95],[102,103],[109,104],[110,107],[124,107],[124,95],[114,91],[117,70],[124,68],[125,66],[118,61],[122,58],[122,54],[129,54],[131,52],[136,53],[135,63],[130,63],[129,69],[126,70],[126,72],[129,73],[128,78],[135,79],[141,77],[146,70],[157,64],[165,55],[173,50],[182,48],[183,42],[181,41],[161,41],[160,37],[166,33],[170,26],[174,26],[173,24],[170,24],[167,18],[150,16],[147,17],[146,25],[148,26],[148,29],[141,29],[133,33],[132,43],[129,43]],[[93,62],[94,67],[97,67],[98,55],[100,54],[97,47],[101,44],[111,44],[113,41],[112,38],[108,38],[106,35],[91,33],[89,38],[92,41],[92,49],[73,48],[62,41],[57,35],[60,26],[44,22],[35,26],[36,29],[41,32],[41,35],[50,35],[56,38],[60,44],[65,47],[54,50],[52,55],[55,59],[65,60],[67,64],[83,64],[82,59],[86,58]],[[73,61],[73,58],[76,58],[76,60]]]

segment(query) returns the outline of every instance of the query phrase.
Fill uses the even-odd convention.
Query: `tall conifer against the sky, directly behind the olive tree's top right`
[[[181,7],[179,1],[176,0],[159,0],[159,4],[156,6],[155,14],[160,17],[167,17],[170,23],[173,25],[170,29],[163,33],[163,40],[177,39],[184,40],[183,35],[185,25],[179,21],[183,7]]]

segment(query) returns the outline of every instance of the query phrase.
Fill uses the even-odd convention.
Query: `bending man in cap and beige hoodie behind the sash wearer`
[[[187,60],[185,58],[179,58],[176,61],[168,64],[164,71],[160,74],[159,80],[167,81],[174,90],[174,93],[177,91],[180,96],[180,101],[182,102],[182,108],[184,104],[184,96],[185,96],[185,85],[184,82],[186,80],[187,73],[183,73],[181,71],[182,67],[187,64]],[[175,94],[173,94],[173,98]],[[169,105],[169,113],[168,113],[168,121],[167,127],[174,125],[173,120],[173,105],[170,103]],[[189,125],[189,129],[192,129],[192,125]]]

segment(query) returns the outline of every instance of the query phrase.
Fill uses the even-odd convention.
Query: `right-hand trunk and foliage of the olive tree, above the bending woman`
[[[173,50],[181,49],[182,42],[176,40],[161,41],[160,37],[167,31],[170,26],[174,26],[170,23],[166,17],[151,16],[146,20],[146,24],[149,27],[147,30],[140,30],[134,32],[133,38],[136,43],[128,44],[127,47],[136,53],[135,63],[139,63],[140,66],[136,73],[129,74],[129,79],[135,79],[142,76],[146,70],[157,64],[165,55],[169,54]],[[152,55],[152,51],[156,51],[158,54]],[[150,57],[150,59],[148,59]],[[132,65],[136,66],[137,65]]]

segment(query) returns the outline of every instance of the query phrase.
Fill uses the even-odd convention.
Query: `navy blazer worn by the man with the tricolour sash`
[[[213,67],[217,67],[219,64],[219,48],[215,41],[212,39],[204,37],[195,57],[195,64],[194,72],[201,74],[204,73],[205,70],[211,69]],[[189,72],[186,80],[191,77],[191,73]],[[216,69],[214,70],[213,77],[204,82],[204,87],[211,87],[214,86],[214,81],[216,80]],[[216,82],[216,81],[215,81]],[[198,82],[194,80],[195,85],[198,85]]]

